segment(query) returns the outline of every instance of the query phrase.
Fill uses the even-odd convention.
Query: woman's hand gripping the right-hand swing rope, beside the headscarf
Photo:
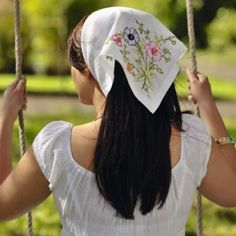
[[[186,70],[188,77],[188,89],[189,95],[188,99],[194,101],[199,105],[205,102],[212,102],[213,97],[211,93],[211,86],[208,81],[207,76],[197,73],[195,76],[194,73],[190,70]]]

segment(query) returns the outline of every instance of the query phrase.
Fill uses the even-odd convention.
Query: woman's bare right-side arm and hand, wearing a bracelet
[[[236,206],[236,150],[233,144],[219,145],[214,140],[228,132],[212,97],[206,76],[187,70],[189,99],[197,102],[201,118],[213,137],[207,174],[199,188],[210,200],[223,206]]]

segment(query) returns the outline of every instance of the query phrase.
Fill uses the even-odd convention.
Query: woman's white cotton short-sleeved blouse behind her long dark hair
[[[62,236],[184,236],[194,193],[206,174],[211,137],[201,120],[183,115],[181,156],[172,168],[172,182],[163,208],[155,207],[135,219],[116,216],[99,194],[95,175],[74,161],[70,136],[72,124],[48,124],[36,137],[33,150],[49,182],[61,216]]]

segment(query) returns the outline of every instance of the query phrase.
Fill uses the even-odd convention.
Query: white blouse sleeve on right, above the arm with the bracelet
[[[186,115],[188,120],[184,128],[187,142],[187,162],[197,187],[201,185],[207,173],[211,154],[212,138],[202,120],[194,115]]]

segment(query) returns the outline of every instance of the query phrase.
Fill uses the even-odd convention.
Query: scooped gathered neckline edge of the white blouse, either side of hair
[[[70,124],[70,130],[69,130],[69,139],[68,139],[68,142],[69,142],[69,145],[67,145],[68,147],[68,153],[70,154],[70,159],[72,161],[72,163],[74,164],[75,167],[77,167],[81,172],[83,172],[85,175],[88,175],[88,176],[91,176],[91,177],[94,177],[95,176],[95,173],[86,169],[85,167],[83,167],[82,165],[80,165],[73,157],[73,153],[72,153],[72,142],[71,142],[71,136],[72,136],[72,129],[73,129],[73,124]],[[180,164],[182,163],[182,159],[183,159],[183,137],[184,137],[184,134],[183,132],[181,131],[180,132],[180,157],[179,159],[177,160],[177,162],[175,163],[174,166],[171,167],[171,171],[176,171],[176,169],[178,169],[178,167],[180,166]]]

